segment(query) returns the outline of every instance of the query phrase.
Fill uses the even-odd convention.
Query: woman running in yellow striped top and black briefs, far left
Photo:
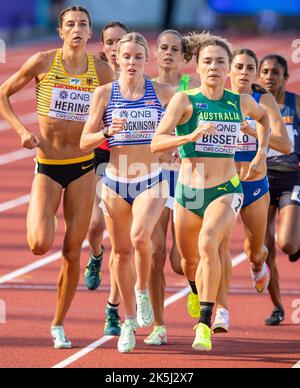
[[[64,191],[66,234],[63,265],[58,279],[58,300],[51,335],[54,347],[69,349],[63,323],[78,286],[80,253],[86,237],[95,195],[94,154],[79,147],[90,101],[96,87],[113,79],[109,66],[86,53],[91,18],[82,7],[61,13],[59,34],[63,48],[31,57],[0,90],[0,110],[20,136],[22,146],[37,148],[27,218],[28,244],[44,255],[55,238],[55,216]],[[36,81],[40,136],[31,133],[14,112],[10,97]]]

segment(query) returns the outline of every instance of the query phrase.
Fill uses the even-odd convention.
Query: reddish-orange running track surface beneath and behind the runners
[[[230,37],[235,47],[249,47],[257,51],[259,57],[276,52],[290,61],[291,79],[289,89],[300,92],[300,76],[297,65],[291,63],[292,41],[297,36],[273,37]],[[49,47],[55,47],[55,44]],[[18,69],[19,65],[32,53],[47,47],[32,46],[9,50],[8,63],[0,65],[0,82]],[[91,45],[97,52],[97,45]],[[149,75],[155,75],[154,62],[148,67]],[[187,71],[194,73],[194,65]],[[37,131],[33,87],[30,85],[14,97],[17,112],[28,126]],[[15,153],[17,152],[17,153]],[[14,153],[14,154],[12,154]],[[53,318],[56,300],[56,279],[60,267],[59,260],[35,270],[24,271],[20,276],[10,276],[16,270],[36,263],[26,245],[26,210],[34,171],[34,156],[24,155],[19,139],[0,119],[0,300],[6,304],[6,323],[0,323],[0,367],[107,367],[107,368],[204,368],[204,367],[246,367],[246,368],[291,368],[300,360],[300,286],[299,264],[290,264],[279,252],[278,263],[281,275],[283,301],[286,308],[285,323],[276,328],[264,326],[264,320],[272,310],[267,294],[254,292],[249,264],[242,262],[233,271],[230,296],[231,328],[227,335],[214,336],[214,349],[209,354],[195,353],[191,349],[194,339],[194,323],[186,313],[186,297],[178,297],[166,308],[169,344],[161,348],[148,348],[143,338],[149,331],[138,332],[136,350],[130,355],[120,355],[116,350],[116,339],[104,339],[88,354],[87,347],[103,336],[105,305],[108,297],[107,270],[108,254],[103,265],[103,284],[95,293],[84,289],[84,266],[88,251],[82,255],[82,277],[80,287],[68,319],[66,330],[72,339],[74,349],[56,351],[52,349],[49,325]],[[18,159],[18,160],[16,160]],[[13,202],[11,202],[13,201]],[[243,232],[238,223],[232,243],[232,255],[236,257],[243,250]],[[46,256],[55,255],[60,250],[63,239],[63,222],[57,233],[53,250]],[[109,243],[106,241],[107,252]],[[178,295],[186,287],[184,278],[175,276],[167,265],[167,297]],[[180,295],[179,295],[180,296]],[[170,300],[168,299],[170,302]],[[0,302],[1,306],[1,302]],[[0,310],[0,322],[1,322]],[[99,345],[99,342],[97,343]],[[70,360],[70,357],[74,356]],[[64,363],[68,360],[66,363]]]

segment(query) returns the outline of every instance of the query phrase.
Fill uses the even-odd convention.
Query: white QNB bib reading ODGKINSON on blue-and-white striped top
[[[125,118],[124,130],[115,135],[117,142],[152,140],[158,126],[156,109],[116,109],[113,118]]]

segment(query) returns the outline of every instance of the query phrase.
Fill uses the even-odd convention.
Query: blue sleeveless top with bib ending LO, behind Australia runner
[[[259,104],[262,94],[254,92],[252,97]],[[246,120],[253,129],[256,130],[256,121],[251,117],[246,117]],[[240,132],[238,145],[236,148],[235,161],[236,162],[252,162],[258,151],[258,141],[255,137]]]

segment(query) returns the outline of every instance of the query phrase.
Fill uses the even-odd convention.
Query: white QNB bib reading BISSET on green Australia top
[[[204,124],[205,122],[202,123]],[[201,124],[201,121],[199,124]],[[202,136],[196,144],[196,151],[235,155],[241,124],[234,122],[215,122],[215,125],[217,128],[217,134],[215,136]]]

